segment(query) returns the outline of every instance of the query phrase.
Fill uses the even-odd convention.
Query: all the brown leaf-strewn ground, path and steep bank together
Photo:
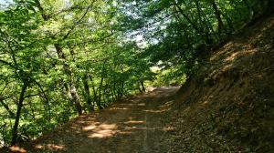
[[[21,152],[274,151],[274,15],[216,50],[176,87],[78,117]]]

